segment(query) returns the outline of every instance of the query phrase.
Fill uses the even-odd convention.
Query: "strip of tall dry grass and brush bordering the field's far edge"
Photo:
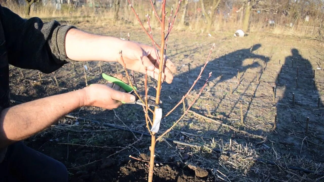
[[[177,6],[177,2],[178,1],[168,3],[166,10],[170,12],[172,6],[174,8]],[[190,2],[188,4],[188,9],[186,11],[185,21],[183,25],[175,23],[176,28],[178,30],[187,30],[191,32],[194,31],[197,33],[211,33],[212,35],[214,35],[215,33],[223,32],[233,34],[237,29],[241,29],[243,27],[242,23],[244,16],[244,10],[240,10],[242,2],[233,2],[234,3],[232,4],[231,9],[227,8],[227,5],[223,3],[224,5],[220,5],[220,7],[216,10],[210,32],[206,32],[207,20],[201,12],[200,3]],[[306,13],[296,13],[297,15],[292,13],[290,15],[284,15],[284,13],[286,13],[283,10],[284,5],[284,3],[278,7],[275,7],[275,5],[273,5],[274,8],[272,8],[271,5],[264,5],[266,7],[269,7],[264,8],[263,10],[261,10],[260,8],[260,14],[258,14],[258,9],[253,9],[250,19],[250,33],[267,32],[281,35],[291,35],[297,38],[308,40],[323,40],[323,13],[317,13],[316,10],[313,10],[314,12],[307,11]],[[3,4],[3,6],[9,7],[22,17],[26,17],[23,5],[18,6],[17,4],[7,3]],[[156,3],[156,6],[159,10],[160,8],[158,2]],[[207,11],[207,7],[210,6],[210,1],[206,1],[205,6]],[[304,6],[305,7],[300,8],[306,9],[307,5]],[[312,6],[310,5],[310,7],[307,8],[312,9],[316,7]],[[133,7],[139,13],[139,17],[142,18],[144,25],[146,25],[146,14],[154,17],[151,12],[149,1],[147,0],[135,1],[133,3]],[[178,22],[182,16],[182,10],[183,6],[180,6]],[[312,16],[309,16],[309,21],[305,21],[305,17],[309,13],[313,14]],[[41,17],[44,18],[44,21],[50,21],[54,18],[61,21],[64,20],[64,22],[66,23],[89,21],[92,23],[95,22],[97,24],[105,24],[107,23],[107,20],[111,20],[113,18],[113,14],[113,7],[107,7],[107,5],[103,7],[97,6],[96,8],[92,8],[87,6],[74,7],[74,5],[72,4],[62,4],[61,10],[56,10],[54,5],[40,6],[39,4],[35,3],[31,8],[30,17]],[[117,24],[138,25],[137,19],[133,16],[133,12],[129,8],[128,4],[126,4],[126,1],[120,2],[118,19],[119,21],[117,22]],[[275,22],[274,26],[270,26],[270,20],[273,20]],[[291,24],[293,25],[292,27],[290,26]],[[157,24],[154,25],[154,22],[152,22],[152,25],[153,28],[154,26],[158,26]]]

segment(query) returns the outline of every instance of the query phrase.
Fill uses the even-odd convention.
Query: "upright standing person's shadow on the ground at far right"
[[[288,135],[286,140],[292,143],[291,145],[296,148],[296,151],[299,151],[301,141],[296,137],[305,137],[307,117],[311,121],[309,130],[318,131],[318,134],[323,136],[323,126],[320,124],[323,121],[323,118],[321,118],[323,117],[323,110],[321,109],[323,103],[319,100],[320,108],[318,108],[320,95],[316,85],[314,86],[311,63],[303,58],[297,49],[292,49],[291,53],[292,55],[285,58],[281,71],[276,78],[276,92],[278,98],[280,98],[276,103],[276,131],[278,133],[294,133],[295,137]],[[295,131],[297,132],[295,133]],[[288,148],[290,150],[292,146]]]

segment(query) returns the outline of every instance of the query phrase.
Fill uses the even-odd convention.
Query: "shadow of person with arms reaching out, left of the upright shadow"
[[[220,56],[217,59],[209,61],[206,68],[204,69],[201,80],[195,85],[194,89],[199,89],[203,86],[204,80],[208,77],[208,73],[210,72],[213,73],[212,77],[209,79],[209,82],[213,82],[214,85],[217,85],[218,83],[225,82],[229,79],[237,77],[237,70],[241,75],[243,75],[249,68],[260,67],[260,64],[256,62],[255,59],[260,59],[267,63],[269,61],[268,57],[254,53],[258,49],[260,49],[260,47],[261,44],[255,44],[251,48],[236,50]],[[243,62],[246,59],[253,59],[253,63],[249,65],[243,65]],[[172,92],[172,94],[175,94],[176,96],[182,94],[185,90],[187,90],[188,87],[192,85],[194,80],[196,80],[203,65],[204,64],[197,65],[190,71],[187,70],[178,75],[175,75],[174,83],[177,83],[175,88],[171,88],[174,87],[174,85],[172,84],[165,84],[163,87],[165,87],[165,89]]]

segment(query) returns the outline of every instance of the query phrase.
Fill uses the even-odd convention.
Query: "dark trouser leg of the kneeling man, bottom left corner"
[[[8,147],[0,164],[1,182],[67,182],[66,167],[22,142]]]

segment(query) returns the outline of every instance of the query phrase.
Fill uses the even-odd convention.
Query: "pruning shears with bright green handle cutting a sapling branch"
[[[133,88],[132,88],[131,85],[128,85],[128,84],[126,84],[125,82],[121,81],[120,79],[115,78],[115,77],[113,77],[113,76],[109,76],[109,75],[104,74],[104,73],[102,74],[102,77],[103,77],[105,80],[107,80],[107,81],[109,81],[109,82],[112,82],[112,83],[114,83],[114,84],[120,86],[120,87],[121,87],[122,89],[124,89],[127,93],[132,94],[132,95],[135,96],[135,101],[134,101],[134,102],[127,102],[127,103],[122,102],[123,104],[139,104],[139,105],[141,105],[141,106],[145,106],[145,104],[141,101],[141,99],[142,99],[143,101],[145,101],[145,96],[139,94],[139,96],[141,97],[141,99],[139,99],[139,98],[137,97],[137,95],[135,94],[135,92],[134,92],[134,90],[133,90]],[[136,88],[135,86],[134,86],[134,89],[137,90],[137,88]],[[158,107],[158,108],[159,108],[160,106],[159,106],[158,104],[156,104],[155,101],[156,101],[156,98],[155,98],[155,97],[153,97],[153,96],[149,96],[149,95],[147,96],[147,105],[149,105],[149,106],[154,106],[154,107]],[[162,101],[160,101],[160,103],[162,103]]]

